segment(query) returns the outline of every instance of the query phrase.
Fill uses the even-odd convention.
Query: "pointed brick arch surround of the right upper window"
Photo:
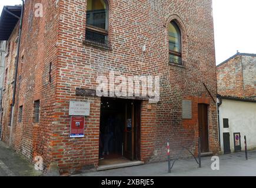
[[[184,22],[182,21],[181,18],[177,14],[172,14],[168,15],[166,22],[165,22],[165,28],[166,28],[166,38],[167,38],[167,53],[168,53],[168,60],[167,62],[169,63],[169,33],[168,33],[168,28],[169,28],[169,23],[174,21],[178,27],[179,30],[181,31],[181,66],[186,66],[187,65],[187,57],[188,57],[188,35],[187,35],[187,28],[185,27]],[[173,64],[173,63],[171,63]],[[179,65],[179,64],[177,64]]]

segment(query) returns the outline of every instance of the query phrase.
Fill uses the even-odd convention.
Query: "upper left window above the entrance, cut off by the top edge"
[[[107,0],[87,0],[86,39],[91,42],[108,42],[108,4]]]

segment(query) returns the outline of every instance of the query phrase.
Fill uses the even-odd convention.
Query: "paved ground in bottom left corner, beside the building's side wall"
[[[41,176],[41,172],[0,141],[0,176]]]

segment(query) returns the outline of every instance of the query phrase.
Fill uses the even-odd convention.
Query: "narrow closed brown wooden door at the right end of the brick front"
[[[208,137],[208,105],[198,105],[198,126],[199,136],[201,138],[201,152],[209,152],[209,137]]]

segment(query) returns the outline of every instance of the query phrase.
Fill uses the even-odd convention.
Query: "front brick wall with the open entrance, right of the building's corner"
[[[115,70],[121,75],[160,75],[161,101],[147,109],[142,103],[141,158],[146,162],[165,160],[166,141],[170,137],[172,156],[182,145],[191,145],[198,137],[197,104],[205,96],[210,104],[210,149],[218,152],[218,126],[216,105],[203,83],[214,98],[217,94],[214,33],[211,1],[161,1],[153,6],[149,1],[109,1],[109,41],[111,50],[83,45],[85,39],[86,1],[60,1],[59,31],[59,79],[56,105],[62,106],[59,116],[62,127],[58,139],[68,139],[69,100],[95,100],[75,96],[76,88],[96,89],[98,75]],[[190,7],[189,10],[187,7]],[[184,66],[168,63],[167,24],[176,19],[182,30]],[[147,51],[142,53],[142,45]],[[183,121],[182,99],[192,98],[193,119]],[[94,105],[94,104],[92,104]],[[90,139],[68,139],[58,155],[62,167],[79,167],[98,163],[98,112],[87,117],[94,129],[85,130],[94,135]],[[65,128],[64,128],[65,127]],[[79,144],[80,143],[80,144]],[[78,147],[79,145],[79,147]],[[93,147],[92,147],[93,146]],[[93,149],[93,150],[92,150]],[[192,150],[194,150],[192,148]],[[84,156],[79,155],[83,153]],[[92,153],[91,157],[87,153]],[[61,159],[62,157],[62,159]],[[58,157],[54,157],[58,158]]]

